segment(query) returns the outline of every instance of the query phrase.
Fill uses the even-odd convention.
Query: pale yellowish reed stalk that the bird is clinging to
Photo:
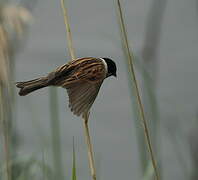
[[[63,10],[64,21],[65,21],[65,26],[66,26],[66,33],[67,33],[67,39],[68,39],[68,45],[69,45],[69,52],[70,52],[71,58],[74,60],[76,57],[75,57],[73,43],[72,43],[72,35],[71,35],[71,30],[70,30],[70,25],[69,25],[68,13],[67,13],[67,9],[66,9],[64,4],[65,4],[64,0],[61,0],[61,7],[62,7],[62,10]],[[84,119],[83,123],[84,123],[84,129],[85,129],[85,137],[86,137],[87,146],[88,146],[89,167],[90,167],[92,179],[96,180],[96,170],[95,170],[95,165],[94,165],[94,155],[93,155],[91,137],[90,137],[90,133],[89,133],[89,125],[88,125],[89,113],[85,113],[83,115],[83,119]]]

